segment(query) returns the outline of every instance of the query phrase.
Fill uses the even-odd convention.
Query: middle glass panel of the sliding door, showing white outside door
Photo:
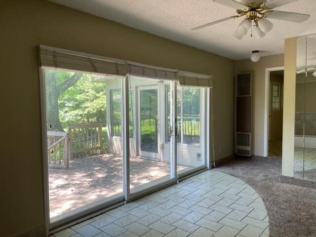
[[[130,138],[129,177],[130,194],[153,189],[162,183],[175,180],[172,171],[172,149],[165,144],[165,112],[170,111],[164,100],[168,80],[130,76],[128,99],[133,122],[133,138]],[[135,92],[135,93],[134,93]],[[171,120],[172,116],[169,116]],[[131,119],[131,117],[129,117]],[[172,129],[172,126],[170,126]],[[172,138],[173,139],[173,138]]]

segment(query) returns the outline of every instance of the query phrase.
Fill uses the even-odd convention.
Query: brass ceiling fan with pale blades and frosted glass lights
[[[191,30],[196,31],[205,27],[215,25],[217,23],[221,23],[231,19],[236,19],[238,17],[243,16],[245,17],[245,19],[241,21],[241,23],[237,27],[237,30],[234,33],[234,37],[238,40],[241,40],[242,37],[244,37],[249,31],[249,28],[251,28],[252,37],[253,27],[254,34],[258,39],[260,39],[264,37],[266,33],[268,33],[273,27],[272,22],[268,19],[277,19],[283,21],[302,23],[310,18],[311,15],[307,14],[272,10],[273,8],[295,1],[298,0],[242,0],[240,2],[235,0],[213,0],[213,2],[237,9],[236,11],[238,15],[229,16],[221,20],[210,22],[195,27]]]

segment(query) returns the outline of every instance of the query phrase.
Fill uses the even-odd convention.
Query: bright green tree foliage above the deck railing
[[[50,71],[53,71],[54,77],[46,77],[46,81],[55,80],[55,83],[46,83],[46,104],[51,104],[51,101],[54,100],[52,97],[57,97],[59,122],[63,130],[66,130],[67,126],[71,124],[106,122],[105,83],[91,82],[89,79],[92,76],[89,74],[77,73],[76,75],[69,71]],[[74,79],[74,76],[77,76],[76,81],[71,80]],[[47,98],[47,94],[53,96]],[[48,99],[51,101],[47,101]],[[53,130],[61,130],[54,125],[58,121],[49,118],[52,117],[52,113],[56,113],[52,109],[53,107],[48,106],[49,110],[46,108],[47,125],[51,125]]]

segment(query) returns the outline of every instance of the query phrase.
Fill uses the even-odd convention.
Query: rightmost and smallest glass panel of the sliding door
[[[177,89],[177,172],[178,174],[205,166],[205,89]],[[179,139],[180,137],[180,139]]]

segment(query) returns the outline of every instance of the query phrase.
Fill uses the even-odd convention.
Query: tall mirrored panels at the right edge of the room
[[[297,39],[294,177],[316,181],[316,35]]]

